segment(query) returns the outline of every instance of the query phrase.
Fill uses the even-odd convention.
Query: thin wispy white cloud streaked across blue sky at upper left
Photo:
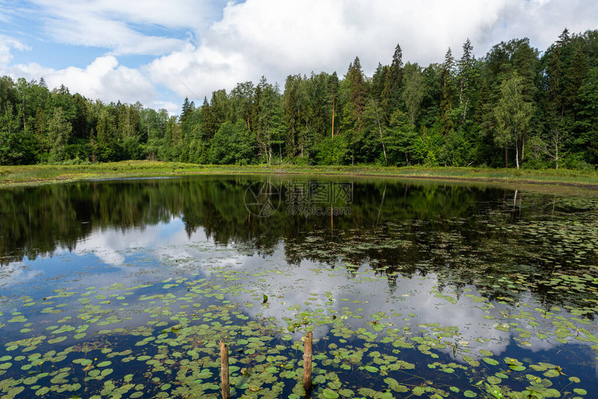
[[[211,23],[217,8],[193,0],[32,0],[40,22],[56,42],[110,49],[112,54],[157,56],[180,49]],[[218,4],[218,1],[216,1]],[[147,32],[152,33],[148,34]]]

